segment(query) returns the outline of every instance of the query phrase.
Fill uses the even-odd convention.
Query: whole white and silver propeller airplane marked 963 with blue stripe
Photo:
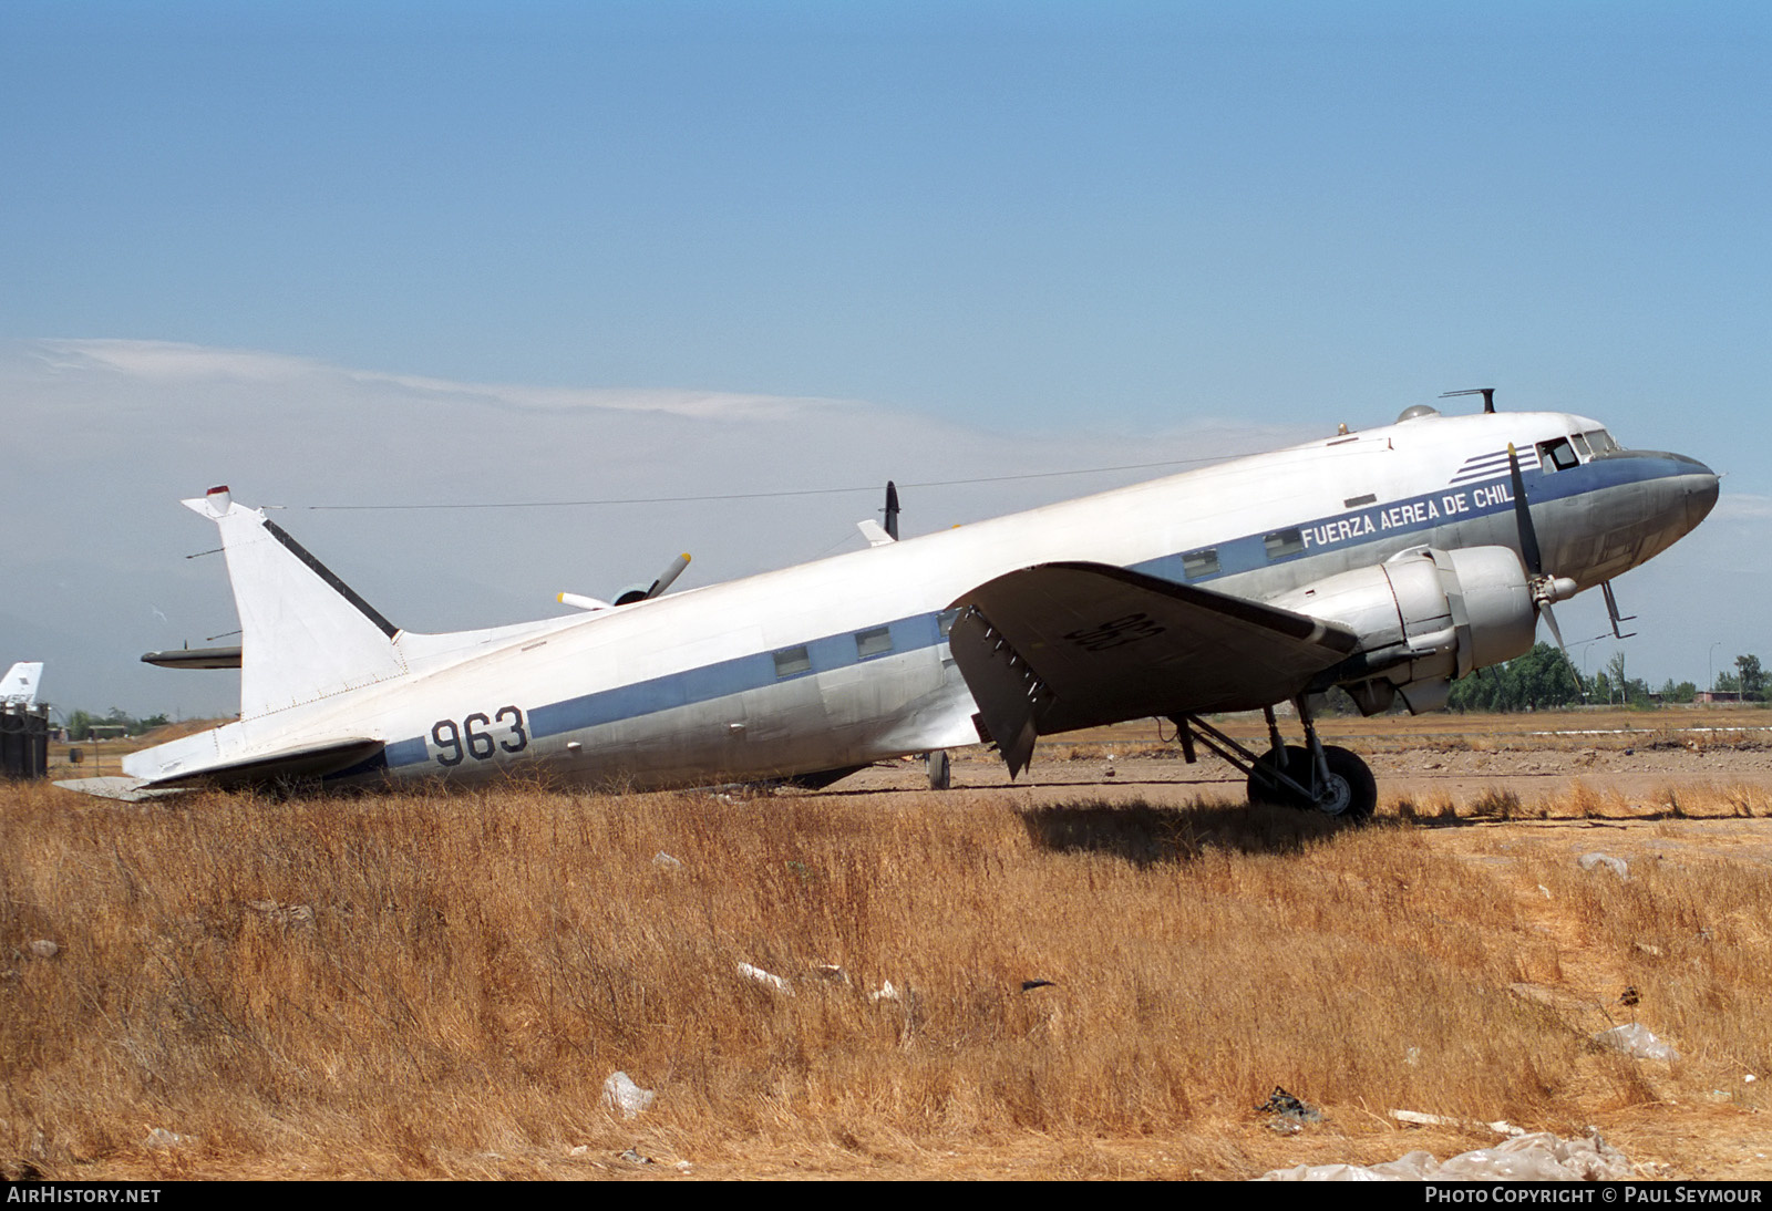
[[[1597,584],[1616,627],[1609,581],[1715,501],[1708,467],[1623,450],[1598,421],[1418,405],[1384,428],[902,542],[863,522],[867,551],[781,572],[675,595],[661,577],[615,606],[562,595],[588,613],[432,636],[211,489],[184,505],[222,529],[239,655],[145,659],[237,662],[241,717],[126,758],[126,790],[525,770],[822,786],[980,740],[1015,775],[1040,735],[1166,717],[1187,760],[1196,744],[1230,760],[1251,798],[1357,820],[1372,772],[1317,738],[1313,694],[1435,710]],[[1302,745],[1281,740],[1286,701]],[[1255,708],[1267,752],[1205,719]],[[930,770],[944,783],[944,760]]]

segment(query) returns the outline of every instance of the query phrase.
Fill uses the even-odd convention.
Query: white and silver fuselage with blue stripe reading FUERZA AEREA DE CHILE
[[[980,740],[950,604],[1092,561],[1265,602],[1414,547],[1519,551],[1508,443],[1543,565],[1586,590],[1710,512],[1717,476],[1563,413],[1421,416],[592,614],[393,637],[399,660],[310,701],[136,754],[135,777],[381,742],[342,777],[533,770],[599,786],[815,774]],[[250,632],[248,632],[250,636]],[[255,652],[246,646],[250,667]]]

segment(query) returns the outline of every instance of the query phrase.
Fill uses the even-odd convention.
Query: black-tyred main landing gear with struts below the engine
[[[1324,744],[1317,738],[1317,721],[1302,698],[1294,699],[1299,722],[1304,724],[1304,745],[1286,744],[1279,737],[1274,708],[1263,706],[1267,719],[1267,752],[1256,754],[1242,747],[1200,715],[1175,719],[1182,756],[1196,760],[1194,744],[1224,758],[1249,775],[1249,802],[1278,807],[1315,809],[1359,823],[1379,806],[1379,784],[1372,768],[1354,752]]]

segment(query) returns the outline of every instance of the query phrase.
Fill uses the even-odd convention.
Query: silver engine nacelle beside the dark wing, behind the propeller
[[[1396,696],[1411,713],[1439,710],[1455,680],[1524,655],[1538,629],[1526,567],[1510,547],[1423,547],[1269,604],[1359,636],[1359,652],[1329,676],[1368,715],[1387,710]]]

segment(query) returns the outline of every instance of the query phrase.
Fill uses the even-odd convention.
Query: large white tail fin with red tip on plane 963
[[[183,503],[222,529],[241,627],[241,719],[406,673],[399,627],[262,510],[236,505],[227,487]]]

